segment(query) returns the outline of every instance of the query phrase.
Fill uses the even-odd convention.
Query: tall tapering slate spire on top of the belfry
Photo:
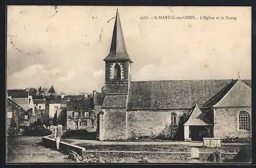
[[[118,13],[118,8],[116,10],[116,19],[113,29],[112,42],[110,47],[109,55],[104,59],[104,61],[114,61],[114,60],[127,60],[132,63],[129,58],[126,46],[124,43],[123,32],[120,22],[120,17]]]

